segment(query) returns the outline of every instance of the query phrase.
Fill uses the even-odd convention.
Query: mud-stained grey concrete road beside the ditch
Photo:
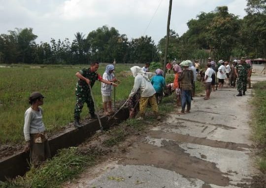
[[[191,113],[174,109],[125,154],[91,168],[69,187],[248,188],[259,173],[250,140],[252,92],[236,97],[236,89],[226,86],[210,100],[195,97]]]

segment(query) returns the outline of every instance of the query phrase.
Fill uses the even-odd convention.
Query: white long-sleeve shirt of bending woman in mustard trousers
[[[129,96],[133,97],[138,89],[141,97],[151,97],[156,93],[151,82],[146,80],[142,75],[135,76],[134,86]]]

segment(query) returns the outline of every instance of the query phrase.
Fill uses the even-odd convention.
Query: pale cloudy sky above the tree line
[[[201,12],[228,6],[243,18],[246,0],[172,0],[170,29],[182,36],[187,22]],[[129,40],[149,36],[158,43],[166,36],[169,0],[0,0],[0,34],[15,28],[33,28],[40,41],[74,39],[99,27],[114,27]]]

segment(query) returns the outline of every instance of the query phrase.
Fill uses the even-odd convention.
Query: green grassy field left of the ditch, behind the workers
[[[49,132],[60,130],[73,120],[75,105],[75,73],[86,67],[30,67],[0,68],[0,144],[21,143],[24,140],[24,113],[28,97],[33,91],[41,92],[44,98],[43,121]],[[116,100],[126,99],[133,86],[133,76],[122,73],[130,71],[128,65],[118,65],[116,76],[123,80],[116,88]],[[105,65],[100,65],[98,73],[102,75]],[[100,82],[93,87],[94,98],[98,109],[101,108]],[[81,118],[88,115],[86,104]]]

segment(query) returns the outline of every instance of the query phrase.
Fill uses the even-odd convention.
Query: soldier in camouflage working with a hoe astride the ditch
[[[81,127],[79,123],[80,113],[83,108],[83,104],[87,103],[89,108],[91,118],[97,118],[95,115],[94,102],[91,96],[91,91],[89,84],[93,87],[96,80],[99,80],[103,83],[117,86],[117,84],[112,83],[108,80],[102,79],[102,77],[96,72],[99,68],[98,62],[91,63],[90,68],[84,68],[76,73],[76,76],[79,78],[76,83],[76,105],[74,110],[74,126]]]

